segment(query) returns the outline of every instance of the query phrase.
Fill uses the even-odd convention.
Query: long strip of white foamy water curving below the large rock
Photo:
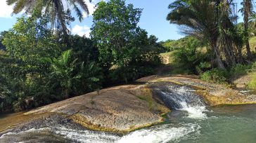
[[[67,139],[71,139],[75,142],[83,143],[105,143],[105,142],[117,142],[117,143],[158,143],[158,142],[170,142],[179,141],[184,139],[186,135],[191,132],[197,132],[200,129],[199,125],[188,123],[181,125],[181,127],[173,127],[171,124],[155,125],[151,128],[142,130],[136,130],[120,137],[106,132],[98,132],[91,130],[72,130],[68,128],[40,128],[30,129],[21,132],[9,132],[6,135],[23,135],[28,132],[41,132],[41,130],[49,130],[55,132],[58,135],[63,135]],[[2,137],[4,137],[3,135]]]

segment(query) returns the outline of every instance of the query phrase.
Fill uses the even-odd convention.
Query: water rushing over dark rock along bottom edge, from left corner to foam
[[[0,137],[0,142],[160,143],[177,141],[198,130],[200,130],[200,125],[195,123],[181,124],[178,127],[165,124],[136,130],[121,137],[110,132],[92,130],[74,130],[62,127],[32,128],[20,132],[8,132]]]

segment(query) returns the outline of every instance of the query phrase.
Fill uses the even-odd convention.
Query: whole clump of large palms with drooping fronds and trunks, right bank
[[[230,50],[233,48],[233,37],[227,32],[233,29],[229,8],[231,2],[226,0],[177,0],[169,5],[171,12],[167,15],[170,23],[183,27],[182,32],[209,43],[212,53],[215,54],[212,63],[217,63],[220,69],[224,69],[222,51],[229,66],[236,61],[235,51]],[[228,46],[224,46],[226,43],[229,43]]]

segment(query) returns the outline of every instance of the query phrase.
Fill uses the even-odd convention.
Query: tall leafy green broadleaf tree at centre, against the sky
[[[141,9],[134,8],[132,4],[126,6],[124,0],[101,1],[98,4],[91,36],[97,43],[105,69],[114,65],[125,69],[132,57],[139,53],[139,48],[133,43],[142,31],[137,26],[140,17]]]

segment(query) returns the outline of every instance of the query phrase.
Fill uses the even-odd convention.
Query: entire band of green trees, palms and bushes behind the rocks
[[[186,34],[158,42],[139,27],[143,10],[124,0],[101,1],[90,38],[70,34],[68,25],[89,14],[89,1],[7,0],[25,11],[0,34],[0,112],[21,111],[153,75],[169,56],[168,74],[196,74],[230,84],[255,73],[256,14],[243,0],[243,22],[232,0],[175,0],[167,21]],[[68,5],[68,6],[65,6]],[[73,10],[73,11],[72,11]],[[160,54],[162,53],[162,54]],[[255,74],[253,74],[255,75]],[[249,88],[256,88],[252,76]]]

